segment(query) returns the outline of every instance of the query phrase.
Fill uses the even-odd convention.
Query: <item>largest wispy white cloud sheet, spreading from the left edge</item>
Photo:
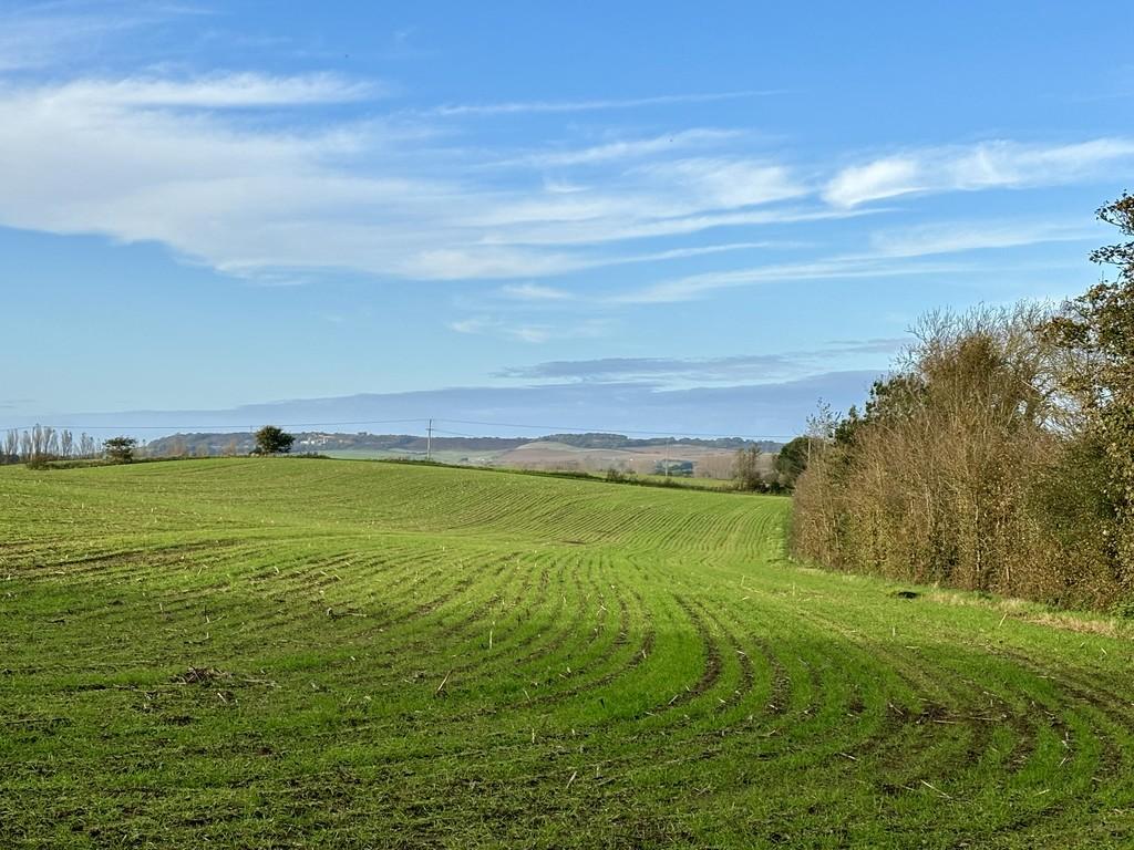
[[[671,172],[626,173],[603,190],[515,180],[500,188],[467,168],[475,152],[446,138],[421,144],[438,138],[429,126],[302,116],[378,94],[333,75],[0,84],[0,226],[158,241],[269,282],[342,270],[532,278],[663,261],[579,249],[634,238],[636,229],[695,232],[718,224],[703,215],[708,207],[795,192],[776,167],[739,160],[677,161]],[[286,120],[251,120],[248,108],[286,108]],[[721,168],[743,171],[742,194],[726,195]],[[599,237],[570,232],[576,227]]]

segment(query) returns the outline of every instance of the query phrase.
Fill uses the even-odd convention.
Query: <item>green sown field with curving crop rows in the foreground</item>
[[[0,468],[0,847],[1134,845],[1134,641],[789,563],[789,503]]]

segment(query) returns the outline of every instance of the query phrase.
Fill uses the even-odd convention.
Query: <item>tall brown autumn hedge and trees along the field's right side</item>
[[[1134,236],[1134,197],[1098,211]],[[1061,605],[1134,606],[1134,241],[1058,307],[938,312],[862,410],[813,422],[794,552]]]

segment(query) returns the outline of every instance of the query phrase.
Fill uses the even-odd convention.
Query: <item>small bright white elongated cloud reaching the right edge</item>
[[[1066,145],[993,141],[934,147],[845,168],[828,182],[823,196],[836,206],[855,206],[912,193],[1055,186],[1095,177],[1123,160],[1134,160],[1134,139]]]

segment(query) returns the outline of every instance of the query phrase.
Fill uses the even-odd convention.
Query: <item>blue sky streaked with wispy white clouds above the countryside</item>
[[[0,0],[0,427],[790,436],[920,315],[1099,279],[1132,28]]]

